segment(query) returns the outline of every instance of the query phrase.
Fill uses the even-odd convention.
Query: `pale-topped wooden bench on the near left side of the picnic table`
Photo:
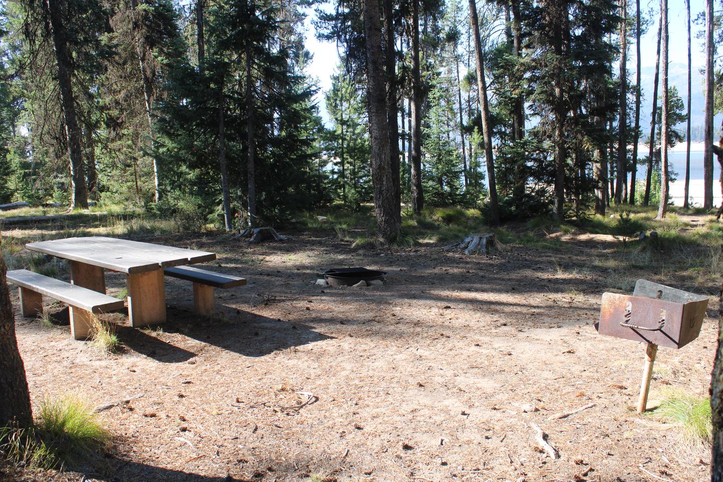
[[[20,287],[23,317],[37,317],[43,314],[43,295],[68,304],[70,331],[76,340],[85,340],[90,335],[93,313],[122,309],[124,306],[123,300],[113,296],[28,270],[8,271],[7,280]]]

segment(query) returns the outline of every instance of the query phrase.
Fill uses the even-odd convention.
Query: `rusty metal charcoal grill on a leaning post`
[[[603,293],[600,322],[595,325],[600,335],[646,343],[638,413],[646,409],[658,346],[679,349],[695,340],[707,306],[707,296],[648,280],[638,280],[632,296]]]

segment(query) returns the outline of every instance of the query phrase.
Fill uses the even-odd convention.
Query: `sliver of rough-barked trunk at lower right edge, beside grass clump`
[[[723,168],[723,165],[721,167]],[[723,482],[723,285],[718,296],[718,348],[716,348],[710,388],[713,423],[711,482]]]

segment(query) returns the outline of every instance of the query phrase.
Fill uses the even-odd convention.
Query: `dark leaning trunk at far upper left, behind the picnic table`
[[[45,0],[47,23],[46,28],[53,36],[56,66],[58,69],[58,87],[60,90],[61,106],[65,124],[65,134],[68,142],[68,156],[70,158],[70,184],[72,197],[70,208],[88,207],[88,191],[85,186],[85,168],[83,163],[82,136],[80,124],[75,110],[75,97],[73,94],[73,64],[72,56],[68,51],[68,33],[63,18],[63,0]]]

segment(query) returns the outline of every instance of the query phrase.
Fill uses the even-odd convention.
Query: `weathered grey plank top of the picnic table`
[[[216,259],[216,255],[208,251],[195,251],[194,249],[107,238],[106,236],[39,241],[28,243],[25,247],[30,251],[51,254],[55,257],[129,274]]]

